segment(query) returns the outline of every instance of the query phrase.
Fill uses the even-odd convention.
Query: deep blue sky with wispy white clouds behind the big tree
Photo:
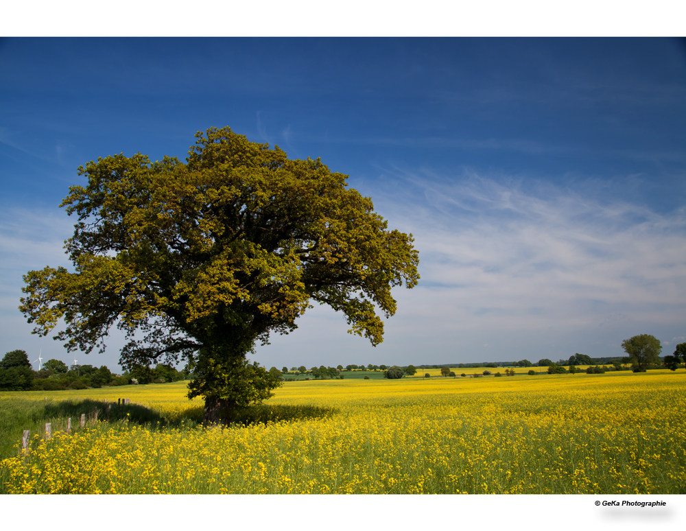
[[[413,233],[421,282],[376,348],[316,307],[265,366],[622,355],[686,337],[686,45],[666,38],[0,40],[0,353],[72,362],[19,313],[69,266],[79,165],[184,158],[230,126],[321,157]],[[79,363],[118,368],[116,334]]]

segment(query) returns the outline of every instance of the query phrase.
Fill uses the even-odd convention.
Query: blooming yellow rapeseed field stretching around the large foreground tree
[[[99,422],[3,460],[3,491],[686,492],[685,374],[521,372],[288,382],[263,406],[273,420],[247,427]],[[167,418],[198,418],[202,403],[184,394],[178,383],[22,396],[127,397]]]

